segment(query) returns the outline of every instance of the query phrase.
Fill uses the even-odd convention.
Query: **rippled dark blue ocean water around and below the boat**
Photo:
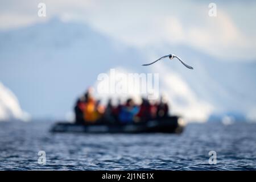
[[[189,124],[180,135],[52,134],[51,125],[0,123],[0,170],[256,170],[256,124]]]

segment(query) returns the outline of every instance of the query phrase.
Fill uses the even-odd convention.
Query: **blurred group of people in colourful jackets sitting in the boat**
[[[128,98],[125,104],[119,100],[115,106],[109,99],[108,104],[104,106],[93,97],[92,88],[89,88],[75,104],[75,119],[77,124],[147,122],[150,119],[168,117],[169,109],[163,97],[155,103],[142,98],[140,105],[135,104],[132,98]]]

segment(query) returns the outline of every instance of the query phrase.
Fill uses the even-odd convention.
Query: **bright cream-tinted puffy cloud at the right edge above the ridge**
[[[256,44],[232,22],[221,10],[216,18],[206,18],[202,26],[187,28],[183,36],[187,44],[221,59],[254,59]]]

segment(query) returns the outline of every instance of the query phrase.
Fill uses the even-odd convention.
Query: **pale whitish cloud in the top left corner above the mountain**
[[[44,0],[46,4],[46,17],[39,17],[39,3],[41,0],[23,0],[0,2],[0,29],[29,26],[36,22],[43,22],[55,16],[63,19],[77,19],[85,14],[86,9],[93,6],[91,0]],[[69,18],[70,17],[70,18]]]

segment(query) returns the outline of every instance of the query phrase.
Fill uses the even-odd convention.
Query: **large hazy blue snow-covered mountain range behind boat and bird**
[[[164,60],[141,67],[167,53],[182,57],[195,69]],[[64,117],[73,102],[98,74],[159,73],[160,92],[170,98],[172,111],[190,120],[239,111],[256,118],[256,64],[217,60],[191,47],[135,49],[76,22],[52,19],[30,27],[0,32],[0,78],[16,93],[32,117]]]

